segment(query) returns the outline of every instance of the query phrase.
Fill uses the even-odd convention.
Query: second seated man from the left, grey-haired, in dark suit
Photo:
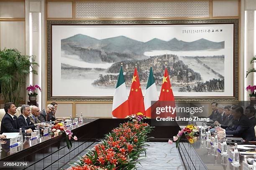
[[[35,125],[30,121],[29,115],[31,113],[29,105],[22,105],[20,107],[21,115],[18,117],[18,121],[21,128],[35,130]]]

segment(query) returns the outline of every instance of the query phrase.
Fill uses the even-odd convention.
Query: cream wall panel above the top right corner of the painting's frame
[[[212,16],[238,16],[238,0],[213,0]]]

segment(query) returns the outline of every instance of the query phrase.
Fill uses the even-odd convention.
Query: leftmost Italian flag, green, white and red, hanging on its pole
[[[123,66],[121,66],[118,82],[113,97],[112,115],[116,118],[124,118],[129,115],[128,95],[126,92]]]

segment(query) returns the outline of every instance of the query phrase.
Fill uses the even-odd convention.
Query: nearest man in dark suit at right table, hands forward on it
[[[222,129],[218,128],[218,134],[234,135],[239,136],[246,141],[255,140],[254,127],[251,121],[243,115],[243,107],[238,106],[233,112],[234,120],[237,120],[234,125],[234,129]]]

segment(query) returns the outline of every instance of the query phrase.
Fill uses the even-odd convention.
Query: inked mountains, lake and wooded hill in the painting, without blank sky
[[[61,40],[61,78],[89,79],[92,86],[114,89],[123,62],[125,83],[129,87],[137,63],[141,85],[146,86],[149,65],[152,63],[156,85],[161,86],[164,62],[167,62],[174,91],[223,92],[224,55],[180,56],[170,52],[219,50],[224,47],[225,42],[205,39],[184,42],[173,38],[166,42],[154,38],[148,42],[140,42],[125,36],[98,40],[77,34]],[[158,54],[157,51],[161,50],[166,50],[166,54]],[[69,60],[76,60],[84,65],[72,65]],[[218,65],[212,65],[213,62]]]

